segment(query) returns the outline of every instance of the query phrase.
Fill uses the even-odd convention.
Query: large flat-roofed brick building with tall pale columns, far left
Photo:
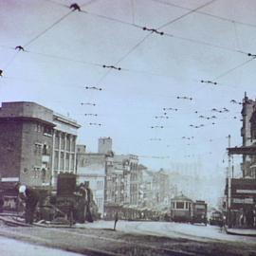
[[[51,186],[60,172],[75,172],[80,125],[35,102],[3,102],[0,108],[2,180]]]

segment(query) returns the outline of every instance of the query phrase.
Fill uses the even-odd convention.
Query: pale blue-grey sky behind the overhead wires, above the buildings
[[[0,0],[0,101],[76,119],[90,152],[112,137],[116,154],[150,169],[225,174],[228,135],[242,143],[230,101],[255,99],[256,2],[75,1]]]

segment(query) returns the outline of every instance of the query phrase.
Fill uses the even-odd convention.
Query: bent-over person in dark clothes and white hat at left
[[[36,190],[25,185],[19,187],[19,196],[25,201],[25,222],[33,224],[34,213],[39,201],[39,194]]]

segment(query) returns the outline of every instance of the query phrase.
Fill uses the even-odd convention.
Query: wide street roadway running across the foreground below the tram
[[[256,237],[228,235],[214,226],[119,221],[117,231],[113,227],[113,221],[66,229],[3,226],[0,235],[83,255],[256,255]]]

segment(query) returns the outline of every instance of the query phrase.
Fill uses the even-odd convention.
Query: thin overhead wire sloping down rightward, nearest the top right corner
[[[175,5],[173,3],[165,2],[165,1],[162,1],[162,0],[151,0],[151,1],[154,1],[155,3],[163,4],[163,5],[166,5],[166,6],[171,6],[171,7],[179,8],[179,9],[192,10],[191,8],[182,7],[182,6]],[[254,27],[254,28],[256,28],[255,24],[250,24],[250,23],[240,22],[240,21],[237,21],[237,20],[232,20],[232,19],[229,19],[229,18],[225,18],[225,17],[222,17],[222,16],[211,14],[209,12],[205,12],[205,11],[202,11],[202,10],[196,10],[194,12],[202,14],[202,15],[206,15],[206,16],[209,16],[211,18],[215,18],[215,19],[218,19],[218,20],[221,20],[221,21],[226,21],[226,22],[236,23],[236,24],[239,24],[239,25],[247,26],[247,27]]]

